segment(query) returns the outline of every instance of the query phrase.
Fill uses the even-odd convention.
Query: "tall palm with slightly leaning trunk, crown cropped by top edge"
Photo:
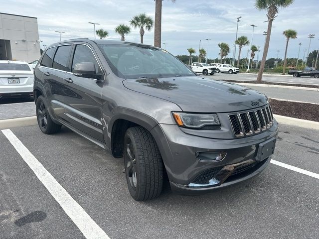
[[[258,10],[267,10],[267,18],[268,18],[268,29],[264,47],[263,58],[260,63],[259,73],[257,77],[257,81],[261,81],[263,77],[263,71],[266,64],[266,57],[269,48],[269,41],[270,41],[270,34],[271,34],[271,27],[273,25],[273,21],[278,13],[278,8],[285,8],[291,5],[294,0],[256,0],[255,6]]]

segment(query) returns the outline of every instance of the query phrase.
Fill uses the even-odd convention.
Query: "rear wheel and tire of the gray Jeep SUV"
[[[41,131],[45,134],[56,133],[61,129],[61,124],[52,121],[43,96],[39,96],[36,100],[36,119]]]

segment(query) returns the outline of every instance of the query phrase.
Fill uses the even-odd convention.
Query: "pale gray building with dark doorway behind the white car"
[[[36,17],[0,12],[0,60],[31,62],[40,58]]]

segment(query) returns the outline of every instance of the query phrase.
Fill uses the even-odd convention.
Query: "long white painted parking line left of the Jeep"
[[[55,180],[55,178],[43,167],[23,143],[10,129],[1,130],[10,141],[15,150],[32,169],[37,178],[46,187],[53,198],[60,204],[64,212],[80,229],[87,239],[110,239],[108,235],[97,225],[84,209],[68,194],[68,192]]]

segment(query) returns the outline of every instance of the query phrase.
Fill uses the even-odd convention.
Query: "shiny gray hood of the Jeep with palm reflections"
[[[178,105],[184,112],[243,111],[268,104],[267,97],[237,84],[202,77],[126,79],[126,88]]]

